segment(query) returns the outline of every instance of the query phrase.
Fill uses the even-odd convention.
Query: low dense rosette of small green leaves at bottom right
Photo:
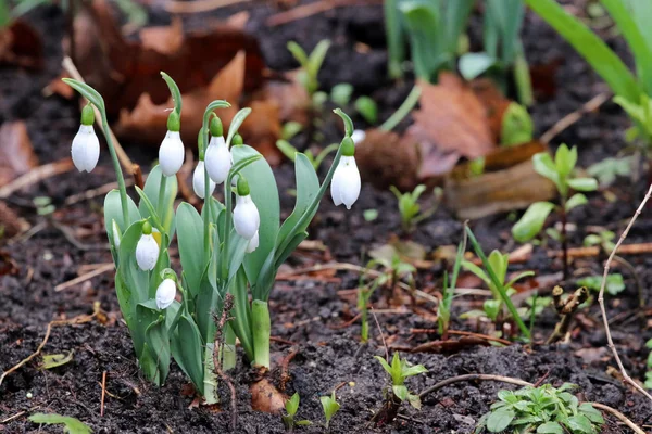
[[[500,391],[499,400],[480,419],[475,433],[598,434],[604,424],[602,413],[567,392],[575,387],[566,383],[559,388],[544,384]]]

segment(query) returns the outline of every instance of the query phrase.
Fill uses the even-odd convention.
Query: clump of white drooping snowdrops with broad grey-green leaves
[[[91,87],[65,79],[88,100],[82,126],[73,140],[72,157],[80,171],[91,171],[100,144],[93,130],[95,106],[102,117],[103,133],[117,177],[118,189],[104,200],[105,229],[115,263],[115,291],[127,323],[140,369],[155,384],[163,384],[174,358],[208,403],[216,401],[213,353],[221,355],[223,370],[235,366],[236,336],[249,361],[269,368],[271,319],[267,301],[280,265],[308,237],[328,186],[336,205],[351,208],[360,194],[360,174],[349,116],[346,135],[322,183],[309,158],[294,158],[297,202],[280,224],[278,189],[265,158],[241,143],[239,126],[251,112],[240,110],[230,122],[226,139],[215,111],[226,101],[211,102],[199,131],[199,163],[192,177],[196,194],[203,199],[198,213],[188,203],[174,202],[176,174],[184,164],[180,138],[181,95],[174,80],[162,73],[174,108],[159,150],[159,165],[150,171],[143,189],[136,187],[136,204],[128,195],[114,145],[108,130],[102,97]],[[224,188],[224,203],[213,197]],[[234,201],[235,199],[235,201]],[[235,204],[234,204],[235,202]],[[171,268],[170,245],[176,234],[183,271]],[[225,296],[234,308],[215,348],[214,316],[222,312]]]

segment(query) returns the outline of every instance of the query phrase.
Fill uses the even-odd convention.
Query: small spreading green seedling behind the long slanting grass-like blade
[[[467,271],[473,272],[475,276],[480,278],[485,284],[491,291],[493,298],[487,299],[484,304],[485,315],[491,320],[497,321],[499,319],[500,314],[503,310],[503,298],[501,295],[501,291],[504,291],[507,297],[511,297],[516,293],[512,286],[521,279],[534,276],[534,271],[523,271],[518,273],[514,279],[505,282],[507,276],[507,267],[510,264],[510,255],[502,254],[499,251],[493,251],[489,254],[489,258],[487,260],[487,265],[485,269],[481,269],[477,265],[463,260],[462,267]],[[491,270],[491,271],[490,271]],[[490,275],[493,273],[497,280],[494,281]]]

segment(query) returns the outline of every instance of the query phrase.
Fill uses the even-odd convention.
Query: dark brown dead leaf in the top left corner
[[[0,29],[0,64],[40,69],[43,66],[43,42],[29,24],[16,20]]]

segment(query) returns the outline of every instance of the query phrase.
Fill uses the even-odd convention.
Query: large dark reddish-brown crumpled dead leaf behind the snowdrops
[[[110,116],[123,108],[134,110],[142,93],[149,94],[155,105],[167,101],[170,92],[161,71],[176,80],[184,94],[204,91],[239,51],[247,52],[244,87],[256,89],[263,82],[264,61],[258,41],[240,28],[222,23],[208,30],[183,34],[180,44],[178,23],[167,31],[153,31],[171,37],[177,50],[162,49],[164,42],[153,42],[155,37],[147,31],[147,44],[126,40],[104,0],[93,1],[77,14],[75,34],[84,37],[75,39],[75,61],[87,82],[104,97]]]

